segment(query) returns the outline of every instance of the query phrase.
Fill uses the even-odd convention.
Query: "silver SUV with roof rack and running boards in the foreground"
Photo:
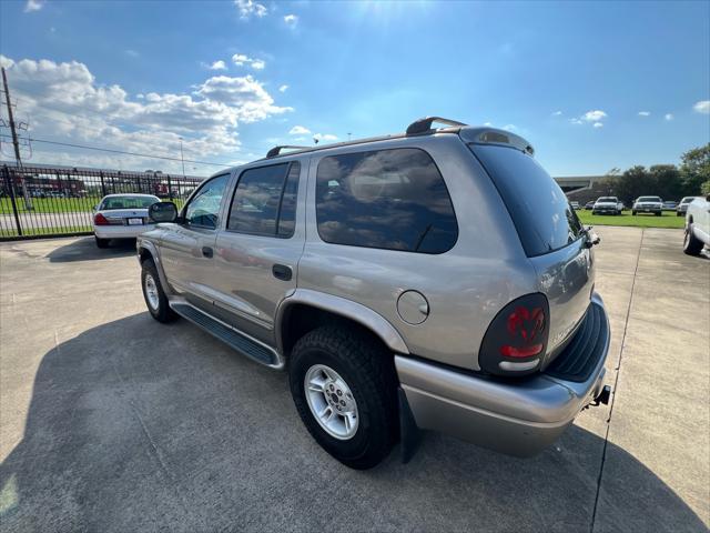
[[[440,118],[277,147],[180,212],[151,207],[148,309],[287,369],[304,424],[348,466],[398,440],[407,461],[420,429],[532,455],[610,393],[599,239],[532,154]]]

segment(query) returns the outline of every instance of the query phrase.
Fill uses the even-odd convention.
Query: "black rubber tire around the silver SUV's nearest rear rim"
[[[305,378],[323,364],[342,376],[357,404],[358,425],[348,440],[328,434],[308,406]],[[291,393],[301,420],[321,446],[356,470],[377,465],[397,440],[397,379],[394,358],[377,340],[347,326],[323,326],[296,342],[290,361]]]

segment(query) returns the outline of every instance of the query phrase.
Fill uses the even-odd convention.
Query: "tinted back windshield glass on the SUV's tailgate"
[[[498,189],[528,257],[559,250],[581,237],[577,213],[535,159],[509,147],[470,148]]]

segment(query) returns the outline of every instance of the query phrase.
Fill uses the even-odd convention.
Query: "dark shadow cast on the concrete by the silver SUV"
[[[7,408],[6,408],[7,409]],[[519,460],[427,434],[409,464],[348,470],[284,373],[140,313],[48,352],[0,466],[3,531],[589,531],[604,440],[572,426]],[[595,531],[706,531],[609,443]]]

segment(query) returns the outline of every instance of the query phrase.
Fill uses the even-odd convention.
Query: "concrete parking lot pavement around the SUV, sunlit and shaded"
[[[707,531],[710,260],[599,228],[612,403],[520,460],[425,435],[351,471],[286,375],[153,321],[131,245],[0,244],[2,531]]]

